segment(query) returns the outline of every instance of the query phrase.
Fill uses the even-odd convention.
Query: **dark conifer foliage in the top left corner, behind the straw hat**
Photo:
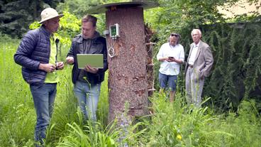
[[[44,8],[55,8],[63,0],[4,0],[0,1],[0,31],[12,37],[21,37],[35,20],[40,21]]]

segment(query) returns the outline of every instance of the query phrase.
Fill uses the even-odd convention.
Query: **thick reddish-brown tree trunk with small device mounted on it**
[[[108,57],[109,121],[124,112],[126,102],[129,116],[148,114],[143,8],[106,11],[107,29],[115,23],[120,26],[120,37],[112,40],[107,36],[107,48],[113,47],[115,52],[114,57]]]

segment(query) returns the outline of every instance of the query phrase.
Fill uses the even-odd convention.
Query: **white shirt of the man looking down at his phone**
[[[184,48],[182,45],[177,44],[175,46],[170,43],[164,43],[161,45],[159,53],[157,53],[157,60],[164,57],[174,57],[175,59],[182,60],[184,62]],[[160,64],[160,73],[165,75],[179,75],[179,63],[167,62],[166,60]]]

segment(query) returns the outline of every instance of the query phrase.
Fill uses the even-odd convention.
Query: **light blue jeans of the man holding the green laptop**
[[[77,81],[74,85],[74,94],[78,99],[79,108],[84,114],[84,120],[88,118],[96,121],[96,110],[101,91],[101,83],[89,85],[85,82]]]

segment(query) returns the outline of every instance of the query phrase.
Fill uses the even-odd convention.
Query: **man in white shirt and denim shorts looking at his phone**
[[[157,53],[157,60],[161,62],[159,70],[160,93],[169,87],[170,102],[174,101],[177,75],[179,75],[180,64],[184,62],[184,48],[179,44],[179,38],[179,34],[171,33],[169,42],[164,43]]]

